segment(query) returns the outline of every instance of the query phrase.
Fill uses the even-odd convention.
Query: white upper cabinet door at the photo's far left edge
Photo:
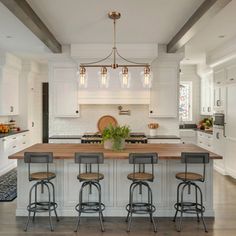
[[[3,69],[0,78],[0,115],[19,114],[19,74]]]

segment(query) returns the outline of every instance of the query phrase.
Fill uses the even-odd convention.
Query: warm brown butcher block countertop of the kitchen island
[[[128,159],[132,152],[156,152],[161,160],[176,160],[181,152],[208,152],[193,144],[127,144],[125,150],[112,151],[103,148],[102,144],[35,144],[9,156],[9,159],[23,159],[24,152],[53,152],[54,159],[74,159],[75,152],[103,152],[105,159]],[[222,159],[209,152],[211,159]]]

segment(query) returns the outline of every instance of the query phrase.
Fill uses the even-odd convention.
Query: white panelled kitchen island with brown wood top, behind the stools
[[[128,203],[130,181],[127,175],[133,171],[128,164],[128,155],[132,152],[156,152],[159,162],[155,165],[155,179],[151,183],[153,190],[155,212],[158,216],[173,216],[174,203],[176,202],[176,187],[178,180],[175,173],[184,171],[180,162],[181,152],[207,152],[192,144],[129,144],[120,152],[105,150],[101,144],[36,144],[21,152],[11,155],[10,159],[17,159],[17,216],[26,216],[28,192],[32,183],[28,181],[28,166],[24,163],[24,152],[53,152],[54,163],[51,171],[57,175],[53,180],[56,188],[56,201],[58,213],[61,216],[76,216],[75,205],[79,199],[80,183],[77,180],[79,167],[74,163],[75,152],[103,152],[105,161],[100,171],[104,174],[101,181],[102,201],[106,205],[104,215],[125,216],[125,206]],[[206,168],[206,182],[200,183],[206,207],[205,216],[214,216],[213,210],[213,159],[222,159],[221,156],[210,153],[210,163]],[[38,171],[40,165],[32,166],[32,171]],[[148,169],[146,169],[148,171]],[[192,171],[200,172],[199,165],[194,165]],[[200,172],[201,173],[201,172]],[[193,192],[193,191],[192,191]],[[96,195],[86,194],[87,199],[95,200]],[[191,195],[189,196],[191,197]],[[136,193],[136,199],[140,195]]]

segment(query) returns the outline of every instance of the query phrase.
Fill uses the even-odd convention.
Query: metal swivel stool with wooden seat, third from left
[[[129,204],[126,205],[126,210],[128,211],[126,222],[128,222],[127,231],[130,232],[132,216],[133,214],[149,214],[150,220],[153,224],[154,232],[157,231],[156,224],[153,218],[153,213],[156,208],[153,205],[152,190],[148,182],[153,182],[154,180],[154,164],[158,162],[157,153],[130,153],[129,163],[133,164],[133,173],[128,174],[127,178],[133,183],[131,183],[129,188]],[[145,172],[145,165],[151,165],[152,173]],[[138,170],[136,171],[136,167]],[[134,202],[134,190],[139,188],[139,194],[142,194],[142,188],[147,188],[148,199],[147,202]]]

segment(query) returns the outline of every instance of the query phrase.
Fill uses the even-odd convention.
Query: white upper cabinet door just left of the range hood
[[[79,117],[75,68],[54,68],[53,100],[55,117]]]

